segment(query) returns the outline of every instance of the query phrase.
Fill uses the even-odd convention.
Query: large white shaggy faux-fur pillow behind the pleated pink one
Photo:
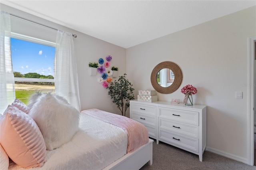
[[[52,93],[35,94],[29,115],[40,128],[47,150],[69,142],[78,130],[79,111],[66,99]]]

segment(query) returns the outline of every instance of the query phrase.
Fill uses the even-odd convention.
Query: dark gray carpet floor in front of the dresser
[[[153,164],[145,164],[140,170],[256,170],[250,166],[209,151],[203,154],[203,162],[196,154],[176,148],[164,142],[153,143]]]

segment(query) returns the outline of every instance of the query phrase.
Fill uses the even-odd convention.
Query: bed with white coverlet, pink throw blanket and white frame
[[[59,148],[47,150],[44,165],[33,169],[138,170],[146,163],[152,165],[153,140],[147,134],[142,144],[139,138],[145,138],[141,135],[143,129],[134,128],[134,123],[142,125],[98,109],[84,110],[73,138]],[[8,169],[24,168],[10,160]]]

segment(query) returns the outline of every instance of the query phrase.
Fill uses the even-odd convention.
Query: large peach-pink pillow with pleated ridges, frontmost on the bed
[[[12,161],[22,168],[41,167],[46,161],[40,129],[29,115],[18,109],[12,108],[1,119],[0,143]]]

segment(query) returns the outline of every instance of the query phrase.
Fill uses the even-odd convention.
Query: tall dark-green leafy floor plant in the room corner
[[[130,100],[134,99],[132,83],[126,78],[126,73],[123,76],[119,76],[118,80],[111,82],[108,94],[113,99],[118,109],[122,112],[122,116],[125,116],[126,110],[130,106]]]

